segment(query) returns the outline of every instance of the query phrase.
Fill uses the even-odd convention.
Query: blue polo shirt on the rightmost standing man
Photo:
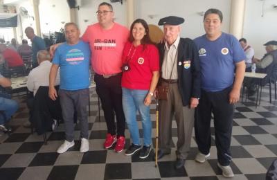
[[[238,39],[222,33],[215,41],[202,35],[194,39],[201,66],[202,89],[222,91],[233,84],[235,64],[245,60]]]

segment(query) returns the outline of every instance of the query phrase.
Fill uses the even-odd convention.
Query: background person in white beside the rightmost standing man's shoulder
[[[240,42],[240,45],[242,46],[244,54],[246,56],[245,64],[247,65],[247,67],[246,67],[245,71],[251,72],[252,59],[254,57],[254,49],[247,44],[247,39],[245,39],[245,38],[241,38],[239,40],[239,42]]]

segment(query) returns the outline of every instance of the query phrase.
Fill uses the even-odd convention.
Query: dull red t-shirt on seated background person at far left
[[[8,67],[23,66],[23,60],[17,51],[7,48],[2,54]]]

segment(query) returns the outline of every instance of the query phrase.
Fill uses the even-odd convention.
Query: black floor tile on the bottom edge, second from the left
[[[57,165],[48,175],[48,180],[73,180],[75,179],[79,165]]]

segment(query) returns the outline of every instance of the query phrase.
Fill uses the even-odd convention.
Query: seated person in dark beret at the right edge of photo
[[[264,46],[267,53],[265,53],[262,59],[253,58],[253,63],[256,63],[256,72],[267,74],[262,79],[262,86],[265,86],[270,81],[276,82],[277,80],[277,41],[269,41]],[[248,78],[247,81],[244,81],[249,96],[253,96],[256,92],[255,84],[259,83],[260,80],[254,78]]]

